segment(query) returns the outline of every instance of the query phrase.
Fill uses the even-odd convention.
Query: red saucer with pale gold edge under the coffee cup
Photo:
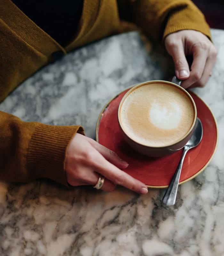
[[[183,149],[161,158],[143,156],[130,148],[121,136],[117,110],[121,99],[130,88],[118,94],[103,108],[96,125],[96,140],[105,147],[115,151],[118,156],[129,163],[124,171],[141,180],[148,187],[165,188],[180,161]],[[185,156],[180,184],[196,177],[212,160],[218,143],[218,129],[214,116],[208,106],[195,93],[189,92],[197,107],[197,116],[203,125],[201,143],[188,151]]]

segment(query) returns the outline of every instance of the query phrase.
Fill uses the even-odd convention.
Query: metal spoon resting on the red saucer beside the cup
[[[180,158],[180,162],[172,177],[169,187],[167,188],[163,196],[163,199],[162,199],[163,204],[165,205],[175,204],[176,197],[177,197],[177,188],[180,180],[180,172],[184,162],[184,157],[186,156],[186,153],[188,152],[189,149],[196,147],[201,142],[202,136],[203,136],[202,123],[201,123],[201,120],[197,118],[194,132],[192,133],[192,136],[190,137],[190,139],[188,140],[187,144],[184,147],[183,155]]]

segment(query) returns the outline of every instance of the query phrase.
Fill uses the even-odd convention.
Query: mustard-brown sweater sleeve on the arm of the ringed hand
[[[23,122],[0,111],[0,179],[28,182],[48,178],[68,186],[65,157],[69,141],[81,126]]]

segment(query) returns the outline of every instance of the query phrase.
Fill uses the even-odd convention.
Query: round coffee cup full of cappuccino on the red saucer
[[[118,123],[123,138],[143,155],[170,155],[183,148],[193,133],[195,102],[180,81],[172,81],[176,84],[163,80],[137,84],[119,104]]]

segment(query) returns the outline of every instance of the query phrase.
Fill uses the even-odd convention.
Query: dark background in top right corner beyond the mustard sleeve
[[[192,0],[211,28],[224,29],[224,0]]]

